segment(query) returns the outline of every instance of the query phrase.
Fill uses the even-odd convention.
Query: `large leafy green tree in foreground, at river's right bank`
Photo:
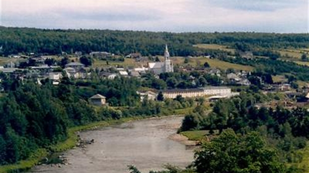
[[[275,149],[267,148],[257,132],[240,136],[224,130],[195,157],[197,173],[285,173]]]

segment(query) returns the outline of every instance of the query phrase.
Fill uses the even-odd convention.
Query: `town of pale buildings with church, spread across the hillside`
[[[185,61],[190,61],[191,59],[211,59],[210,56],[170,58],[167,45],[165,45],[165,50],[162,52],[163,56],[160,58],[161,60],[157,56],[155,58],[145,57],[140,53],[131,53],[125,57],[108,52],[91,52],[88,55],[82,54],[81,52],[68,55],[62,52],[60,56],[37,55],[35,53],[30,53],[29,55],[17,54],[9,55],[5,58],[5,61],[8,63],[1,63],[3,66],[0,66],[0,72],[13,76],[20,81],[36,81],[38,85],[42,85],[41,81],[46,79],[50,80],[53,85],[59,85],[64,76],[76,80],[87,80],[92,79],[93,76],[96,75],[101,79],[113,80],[121,77],[143,78],[146,74],[151,73],[154,75],[154,78],[160,79],[160,74],[174,72],[173,62],[184,61],[183,64],[175,64],[175,68],[177,69],[175,73],[190,74],[187,81],[185,81],[189,83],[187,86],[167,86],[150,90],[137,90],[141,100],[146,96],[148,99],[156,100],[159,92],[162,92],[164,98],[176,98],[177,95],[182,97],[205,97],[209,100],[228,98],[239,95],[239,92],[237,92],[237,90],[240,90],[239,88],[251,86],[252,84],[248,79],[253,81],[252,77],[255,77],[252,75],[251,71],[235,70],[233,68],[222,70],[216,67],[210,67],[207,62],[202,66],[185,66]],[[252,58],[252,53],[251,55],[249,53],[249,56]],[[246,53],[244,57],[248,58],[248,53]],[[13,59],[15,62],[9,61],[10,59]],[[92,63],[93,59],[96,59],[96,61],[106,60],[106,64],[103,66],[96,65],[94,67]],[[116,61],[120,59],[120,63],[109,65],[108,60],[115,61],[115,59]],[[131,64],[126,66],[125,62],[127,60],[130,60]],[[208,75],[216,81],[209,83],[201,80],[202,78],[197,79],[197,76],[194,76],[195,73]],[[295,83],[291,83],[288,80],[273,82],[270,78],[262,79],[262,77],[258,76],[254,78],[254,80],[257,80],[257,83],[262,86],[262,90],[265,94],[283,93],[287,95],[285,100],[278,100],[276,103],[272,102],[273,106],[284,104],[292,108],[298,105],[309,104],[308,102],[306,103],[306,101],[309,101],[308,85],[298,88],[298,86],[295,86]],[[265,80],[271,80],[271,82]],[[2,78],[0,78],[0,82],[5,82],[3,75]],[[256,81],[254,82],[256,83]],[[207,86],[205,84],[210,85]],[[3,86],[1,86],[0,90],[4,90]],[[106,97],[100,94],[90,97],[90,102],[92,102],[92,99],[98,99],[98,95],[100,98],[104,99],[100,104],[103,105],[108,102],[105,100]],[[267,103],[265,106],[266,105],[269,104]],[[261,106],[261,104],[257,104],[256,106]]]

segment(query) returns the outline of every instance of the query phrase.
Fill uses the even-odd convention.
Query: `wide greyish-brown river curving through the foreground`
[[[182,118],[148,119],[82,132],[82,139],[95,143],[64,153],[69,165],[37,166],[30,173],[129,173],[128,165],[148,173],[162,170],[167,163],[184,168],[193,161],[192,149],[169,139]]]

